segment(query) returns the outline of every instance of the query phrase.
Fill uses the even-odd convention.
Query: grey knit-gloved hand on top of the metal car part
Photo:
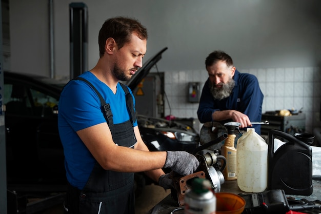
[[[182,176],[192,174],[199,162],[193,154],[186,151],[167,151],[164,168],[171,168]]]

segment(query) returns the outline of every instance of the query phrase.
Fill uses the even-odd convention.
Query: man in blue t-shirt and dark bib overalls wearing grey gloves
[[[79,76],[85,80],[70,81],[59,100],[69,182],[65,213],[134,213],[134,172],[146,171],[168,189],[172,181],[162,167],[187,175],[199,163],[183,151],[148,151],[137,127],[132,91],[118,82],[142,67],[146,28],[131,18],[110,18],[99,31],[98,44],[96,66]],[[107,104],[103,111],[98,93]]]

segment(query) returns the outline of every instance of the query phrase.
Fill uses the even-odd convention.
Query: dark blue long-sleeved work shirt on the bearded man
[[[259,88],[256,76],[235,70],[233,80],[235,87],[231,95],[223,100],[214,99],[209,87],[210,80],[205,82],[197,110],[200,123],[212,122],[214,111],[231,109],[246,114],[252,122],[261,120],[264,95]],[[253,125],[253,128],[256,133],[260,134],[260,125]]]

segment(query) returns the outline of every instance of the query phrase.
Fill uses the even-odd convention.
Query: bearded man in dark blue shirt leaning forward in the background
[[[205,61],[209,78],[200,96],[197,116],[204,123],[200,130],[200,144],[208,143],[226,132],[224,123],[240,123],[240,129],[255,128],[260,134],[260,121],[264,95],[257,78],[249,73],[240,73],[233,65],[231,56],[223,51],[214,51]],[[237,139],[237,138],[236,138]],[[236,147],[235,140],[235,147]],[[223,142],[212,148],[220,149]]]

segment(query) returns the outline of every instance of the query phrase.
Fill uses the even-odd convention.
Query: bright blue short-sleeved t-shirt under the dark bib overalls
[[[80,75],[88,80],[110,104],[114,124],[126,122],[130,113],[126,106],[125,91],[118,83],[113,91],[95,75],[87,71]],[[129,89],[131,95],[132,91]],[[135,106],[135,99],[133,96]],[[59,135],[64,147],[67,180],[79,189],[83,189],[96,160],[78,137],[76,131],[106,123],[101,110],[101,102],[96,92],[84,81],[70,81],[64,88],[58,106]],[[137,121],[133,124],[137,126]]]

